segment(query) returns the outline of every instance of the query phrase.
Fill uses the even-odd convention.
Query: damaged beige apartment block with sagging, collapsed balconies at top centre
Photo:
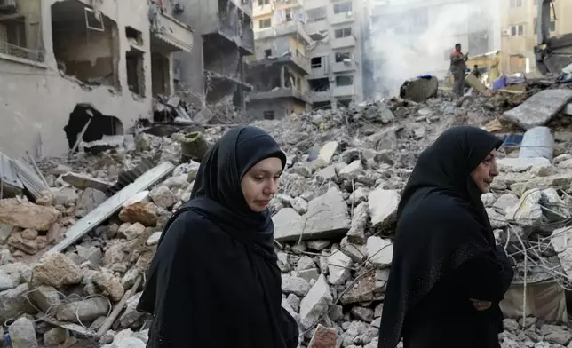
[[[245,59],[249,114],[274,119],[304,112],[312,104],[306,47],[313,40],[304,29],[302,0],[256,0],[253,13],[255,54]]]

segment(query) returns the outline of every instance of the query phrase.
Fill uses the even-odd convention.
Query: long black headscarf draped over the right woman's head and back
[[[470,174],[501,145],[486,130],[458,126],[419,155],[397,211],[379,347],[398,344],[406,314],[444,275],[474,257],[494,257],[494,235]]]

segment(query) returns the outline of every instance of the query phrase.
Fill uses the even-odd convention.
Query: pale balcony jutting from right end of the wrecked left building
[[[193,49],[193,29],[187,24],[155,11],[153,7],[149,10],[149,19],[153,44],[164,51],[190,52]]]

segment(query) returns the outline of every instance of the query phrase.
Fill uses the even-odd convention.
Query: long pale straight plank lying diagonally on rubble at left
[[[148,170],[130,185],[125,186],[121,191],[109,197],[106,202],[101,203],[99,207],[91,210],[85,217],[77,220],[75,225],[68,229],[63,241],[54,245],[49,252],[60,252],[68,248],[68,246],[82,238],[85,233],[89,233],[103,221],[107,220],[107,218],[115,214],[117,210],[120,210],[123,203],[133,194],[138,194],[140,191],[154,185],[169,175],[174,169],[175,166],[171,162],[163,162],[155,168]]]

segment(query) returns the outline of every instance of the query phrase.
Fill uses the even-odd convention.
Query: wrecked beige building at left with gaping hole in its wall
[[[193,31],[163,0],[0,1],[0,151],[60,155],[123,134],[173,91]]]

